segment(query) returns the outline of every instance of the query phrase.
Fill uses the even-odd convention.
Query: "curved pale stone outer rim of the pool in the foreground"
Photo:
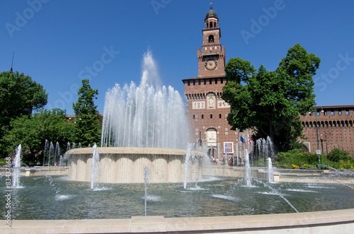
[[[354,209],[255,216],[13,221],[1,233],[352,233]],[[11,232],[12,231],[12,232]]]

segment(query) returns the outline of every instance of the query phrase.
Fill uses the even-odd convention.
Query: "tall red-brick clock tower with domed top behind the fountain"
[[[210,8],[198,48],[198,76],[183,79],[187,100],[190,141],[211,158],[234,158],[239,137],[227,122],[229,103],[222,100],[225,76],[225,47],[220,44],[217,13]]]

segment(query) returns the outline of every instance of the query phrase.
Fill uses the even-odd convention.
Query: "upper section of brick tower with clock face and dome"
[[[220,28],[216,11],[207,12],[202,30],[202,48],[198,48],[198,77],[224,76],[225,47],[220,44]]]

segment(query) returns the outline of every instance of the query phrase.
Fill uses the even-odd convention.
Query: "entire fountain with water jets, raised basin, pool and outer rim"
[[[75,148],[72,144],[72,149],[64,156],[69,165],[69,175],[53,176],[50,181],[51,184],[55,182],[57,189],[47,189],[43,177],[21,179],[26,189],[11,197],[12,218],[17,219],[18,233],[29,226],[42,228],[42,233],[202,233],[264,231],[273,227],[285,231],[290,226],[334,226],[340,230],[341,225],[352,230],[352,187],[318,184],[313,178],[302,183],[272,182],[270,186],[269,179],[264,182],[251,177],[248,151],[245,152],[246,186],[243,178],[232,175],[203,177],[210,172],[201,167],[203,154],[193,151],[192,144],[186,150],[179,149],[187,146],[188,142],[181,97],[173,88],[152,86],[154,82],[151,77],[156,77],[155,70],[151,54],[147,53],[144,56],[142,82],[138,87],[131,83],[123,88],[117,85],[108,91],[101,144],[105,147]],[[173,105],[166,106],[166,103]],[[269,145],[269,142],[260,142],[260,148]],[[98,161],[99,165],[96,164]],[[219,168],[234,171],[232,167]],[[91,178],[97,170],[102,172],[99,180],[105,182],[106,189],[92,192]],[[187,182],[197,179],[198,187],[187,187]],[[4,184],[4,179],[1,178],[0,182]],[[147,192],[148,182],[151,182],[149,192],[156,194],[154,197]],[[5,190],[0,187],[0,196],[3,194]],[[146,216],[147,205],[149,216]],[[0,200],[0,207],[5,206],[4,200]],[[337,209],[343,211],[333,211],[327,215],[327,212]],[[314,211],[326,212],[307,213]],[[299,216],[295,216],[297,212],[300,212]],[[137,217],[144,215],[144,220]],[[113,218],[118,219],[111,221]],[[40,221],[21,222],[33,219]],[[43,228],[46,226],[47,229]],[[4,228],[0,227],[0,230],[4,233]]]

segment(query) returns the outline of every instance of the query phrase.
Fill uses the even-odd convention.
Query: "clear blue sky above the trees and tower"
[[[354,1],[213,1],[227,61],[273,71],[300,43],[321,58],[316,103],[354,104]],[[197,48],[210,0],[29,0],[0,2],[0,71],[29,75],[49,93],[47,108],[73,114],[81,78],[105,92],[139,83],[142,55],[152,51],[164,85],[183,96],[183,78],[198,74]],[[256,22],[256,23],[255,23]],[[91,67],[91,69],[90,69]],[[184,98],[183,98],[184,99]]]

